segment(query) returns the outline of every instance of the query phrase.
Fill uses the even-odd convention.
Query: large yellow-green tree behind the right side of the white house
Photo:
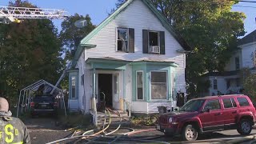
[[[150,0],[193,48],[186,58],[186,82],[198,87],[202,74],[223,71],[237,50],[238,37],[245,34],[244,14],[231,11],[230,0]],[[121,6],[126,0],[118,0]],[[199,86],[201,87],[201,86]],[[194,95],[191,90],[190,93]]]

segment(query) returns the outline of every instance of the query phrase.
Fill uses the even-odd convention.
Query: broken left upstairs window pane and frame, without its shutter
[[[128,52],[128,29],[118,28],[117,50]]]

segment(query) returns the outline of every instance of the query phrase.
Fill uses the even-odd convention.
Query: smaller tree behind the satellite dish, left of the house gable
[[[78,20],[85,19],[87,22],[87,26],[83,28],[78,28],[74,26],[74,22]],[[65,47],[66,59],[72,59],[74,56],[74,50],[79,45],[82,38],[85,38],[90,31],[94,30],[95,26],[90,22],[90,16],[87,14],[86,17],[74,14],[74,16],[70,16],[66,18],[62,22],[62,30],[59,34],[59,37],[62,42],[62,46]]]

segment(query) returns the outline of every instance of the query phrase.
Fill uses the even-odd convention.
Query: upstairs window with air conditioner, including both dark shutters
[[[165,32],[142,30],[143,54],[165,54]]]

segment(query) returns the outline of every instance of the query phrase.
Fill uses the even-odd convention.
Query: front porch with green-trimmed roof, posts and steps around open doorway
[[[129,62],[114,58],[89,58],[86,64],[90,66],[93,76],[93,94],[90,99],[90,114],[94,125],[102,124],[106,114],[105,108],[117,110],[122,118],[129,120],[130,109],[126,106],[126,64]],[[111,117],[118,122],[118,114],[111,112]],[[108,115],[108,114],[107,114]]]

